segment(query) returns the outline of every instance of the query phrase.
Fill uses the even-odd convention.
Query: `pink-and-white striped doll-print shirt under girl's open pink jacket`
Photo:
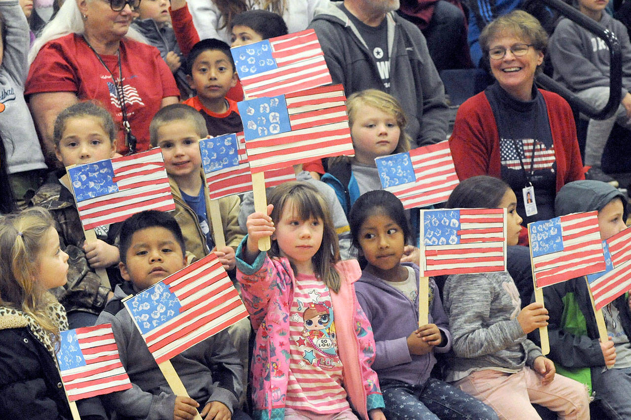
[[[296,277],[289,330],[285,405],[317,413],[335,413],[350,407],[342,387],[331,295],[326,284],[315,276]]]

